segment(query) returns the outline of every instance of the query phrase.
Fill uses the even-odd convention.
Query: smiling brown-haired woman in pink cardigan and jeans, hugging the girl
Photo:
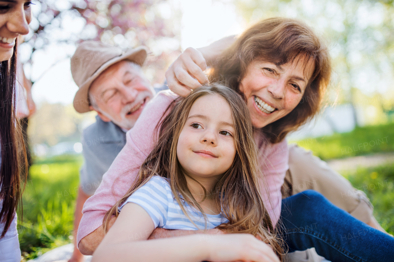
[[[201,62],[198,57],[193,54],[190,57],[193,63],[184,67],[195,78],[204,81],[198,75],[204,66],[198,66]],[[394,238],[356,220],[321,194],[307,190],[281,200],[281,186],[288,170],[288,147],[284,138],[318,111],[331,70],[327,48],[304,24],[275,18],[263,20],[246,30],[221,57],[224,58],[216,60],[219,63],[213,65],[209,77],[212,81],[224,81],[245,98],[256,127],[255,141],[263,171],[261,183],[269,190],[268,196],[263,194],[263,199],[270,205],[267,209],[274,225],[281,216],[281,226],[276,228],[280,228],[278,232],[290,250],[315,247],[319,255],[331,261],[387,260],[390,251],[373,254],[374,245],[393,246]],[[171,71],[167,74],[170,83],[184,83],[180,76],[186,77],[188,73],[173,72],[172,77]],[[303,98],[310,101],[301,103]],[[154,146],[154,127],[173,100],[173,95],[162,93],[147,105],[136,125],[126,134],[125,148],[104,175],[95,195],[86,201],[77,237],[82,253],[93,252],[104,237],[102,219],[105,213],[132,185],[138,167]],[[194,232],[169,231],[162,232],[162,236],[191,233]],[[348,234],[363,241],[351,242]],[[138,238],[146,239],[147,236]],[[128,240],[136,241],[136,238],[129,236]],[[126,247],[127,243],[122,245]],[[247,252],[238,243],[231,245],[234,253]],[[248,254],[237,255],[247,260]]]

